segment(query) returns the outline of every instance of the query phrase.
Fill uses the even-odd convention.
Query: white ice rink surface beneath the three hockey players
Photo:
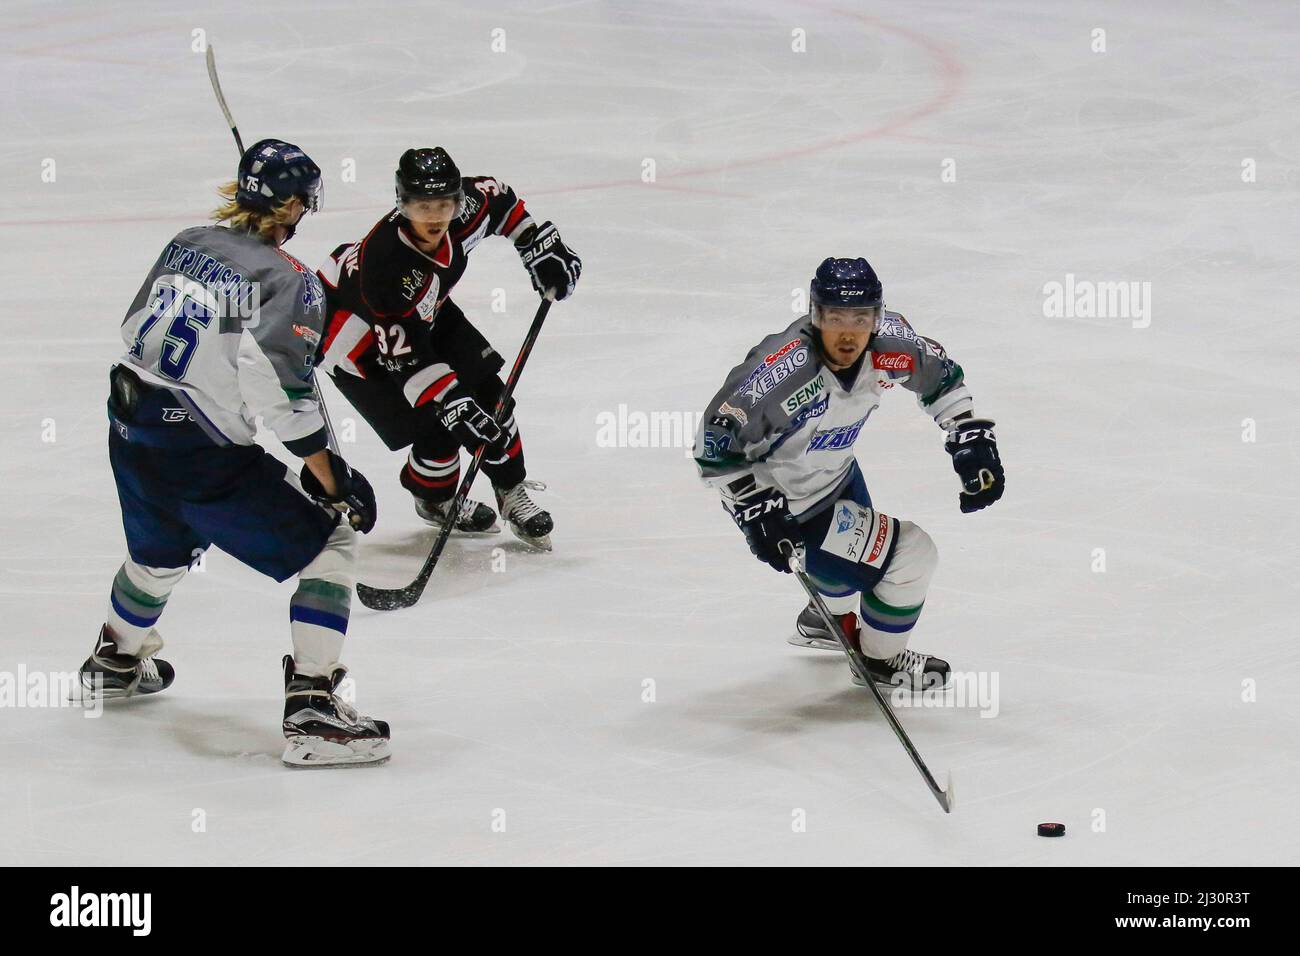
[[[278,762],[292,585],[213,554],[162,619],[166,695],[0,709],[0,862],[1300,862],[1295,4],[273,7],[0,12],[0,672],[75,669],[124,553],[117,324],[234,165],[195,27],[244,139],[326,170],[296,255],[359,237],[433,143],[582,254],[519,389],[555,551],[458,541],[416,609],[354,610],[395,756],[338,773]],[[949,817],[844,663],[785,645],[798,587],[684,450],[597,444],[620,403],[698,412],[823,256],[859,254],[963,364],[1009,473],[959,514],[901,390],[857,446],[940,548],[913,645],[1000,680],[993,719],[902,713]],[[512,355],[525,274],[502,242],[473,259],[456,298]],[[1149,328],[1044,317],[1066,273],[1150,282]],[[404,581],[430,532],[400,458],[364,423],[346,453],[382,509],[361,579]]]

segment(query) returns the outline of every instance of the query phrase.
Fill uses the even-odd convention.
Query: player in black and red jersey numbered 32
[[[520,540],[550,550],[554,523],[529,496],[541,485],[526,477],[514,407],[500,427],[493,420],[504,360],[450,295],[489,235],[515,245],[545,297],[572,295],[582,263],[510,186],[463,177],[442,147],[407,150],[395,178],[396,208],[320,269],[328,300],[321,364],[389,449],[410,449],[400,481],[420,518],[454,520],[462,532],[499,531],[481,502],[467,499],[448,515],[460,449],[486,445],[482,470],[502,518]]]

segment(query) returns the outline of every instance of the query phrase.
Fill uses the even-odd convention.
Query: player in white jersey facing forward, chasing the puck
[[[853,446],[885,389],[901,385],[946,432],[962,511],[1002,496],[993,423],[974,418],[961,365],[884,308],[866,259],[827,259],[810,313],[759,342],[727,376],[696,441],[701,477],[759,561],[789,571],[802,546],[809,576],[878,683],[948,682],[945,661],[907,648],[937,562],[930,535],[872,506]],[[792,644],[840,649],[809,604]]]

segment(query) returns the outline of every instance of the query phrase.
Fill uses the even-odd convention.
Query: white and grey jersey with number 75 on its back
[[[324,300],[311,269],[256,235],[186,229],[131,302],[122,362],[176,394],[217,445],[252,445],[260,415],[304,457],[326,446],[312,388]]]

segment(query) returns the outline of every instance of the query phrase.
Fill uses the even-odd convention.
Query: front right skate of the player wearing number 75
[[[338,667],[328,678],[294,672],[294,658],[285,656],[285,736],[281,760],[291,767],[330,767],[384,763],[389,753],[389,724],[361,717],[335,692],[347,674]]]

